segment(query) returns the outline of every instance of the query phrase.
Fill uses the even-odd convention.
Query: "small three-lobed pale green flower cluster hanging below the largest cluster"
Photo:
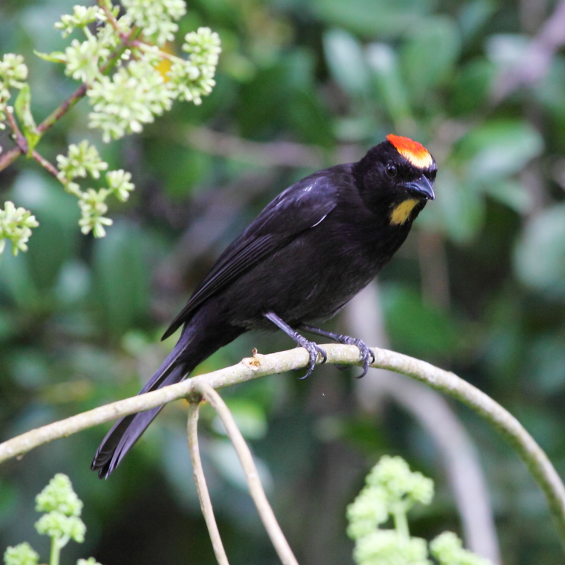
[[[78,198],[78,206],[81,208],[81,226],[83,234],[93,232],[94,237],[104,237],[105,226],[112,225],[112,220],[105,217],[108,211],[106,199],[113,194],[119,201],[125,202],[135,186],[131,183],[131,173],[118,169],[109,171],[105,175],[107,188],[92,189],[85,191],[74,182],[77,177],[85,178],[90,175],[93,179],[100,179],[100,172],[108,168],[108,164],[102,161],[100,153],[94,145],[88,145],[88,141],[81,141],[78,145],[69,145],[69,153],[57,155],[59,174],[57,178],[64,185],[67,192]]]

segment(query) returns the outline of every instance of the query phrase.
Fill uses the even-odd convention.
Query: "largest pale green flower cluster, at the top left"
[[[39,54],[64,63],[68,76],[88,85],[86,94],[93,106],[89,126],[102,130],[106,142],[138,133],[177,98],[200,104],[215,85],[221,51],[220,37],[208,28],[186,35],[187,59],[160,49],[174,39],[178,30],[174,22],[186,13],[184,0],[124,0],[121,4],[125,8],[121,17],[109,0],[107,11],[75,6],[73,14],[62,16],[55,27],[64,37],[81,29],[85,40],[73,39],[65,52]],[[88,28],[93,22],[98,24],[95,33]],[[139,31],[143,40],[137,39]],[[165,60],[170,61],[170,69],[162,74],[157,67]]]

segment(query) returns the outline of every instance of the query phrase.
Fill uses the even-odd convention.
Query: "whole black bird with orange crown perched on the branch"
[[[363,374],[374,357],[361,340],[320,330],[403,244],[434,198],[436,163],[409,138],[389,135],[355,163],[309,175],[279,194],[222,253],[163,339],[177,345],[140,394],[177,383],[238,335],[278,326],[310,355],[326,353],[298,333],[357,345]],[[162,407],[121,418],[92,463],[106,478]]]

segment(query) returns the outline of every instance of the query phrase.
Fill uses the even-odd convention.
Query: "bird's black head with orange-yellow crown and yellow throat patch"
[[[391,225],[414,220],[433,200],[436,162],[423,145],[391,135],[355,163],[355,180],[369,208],[386,210]]]

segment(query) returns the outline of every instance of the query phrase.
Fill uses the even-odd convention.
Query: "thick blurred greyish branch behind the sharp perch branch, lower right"
[[[345,314],[350,335],[357,335],[365,343],[387,346],[376,280],[347,304]],[[369,414],[382,412],[383,396],[389,396],[429,434],[451,484],[465,547],[494,564],[501,564],[487,480],[480,465],[477,446],[447,398],[422,383],[383,369],[375,369],[372,379],[359,379],[355,385],[359,404]]]

